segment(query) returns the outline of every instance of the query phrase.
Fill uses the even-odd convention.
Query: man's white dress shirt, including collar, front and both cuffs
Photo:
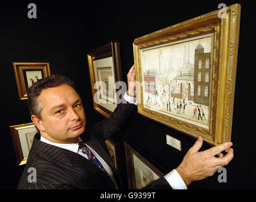
[[[131,104],[135,104],[137,105],[137,99],[134,97],[131,97],[129,95],[127,95],[127,93],[125,92],[124,94],[124,98],[127,102],[130,102]],[[49,140],[46,140],[44,137],[41,136],[40,139],[42,142],[44,143],[48,143],[49,145],[54,145],[54,146],[58,146],[60,148],[63,148],[65,150],[69,150],[69,151],[73,151],[75,153],[79,153],[79,155],[82,155],[83,157],[87,158],[87,155],[85,153],[82,153],[82,150],[79,150],[79,145],[78,143],[71,143],[71,144],[60,144],[60,143],[53,143]],[[82,141],[79,137],[79,141]],[[88,145],[86,145],[88,146]],[[113,172],[110,169],[110,167],[108,166],[108,164],[103,160],[103,158],[101,158],[98,153],[96,153],[96,151],[93,150],[93,148],[91,148],[90,146],[88,146],[89,149],[93,152],[94,156],[96,158],[98,158],[99,162],[101,162],[101,164],[103,165],[103,167],[105,168],[106,172],[108,172],[108,174],[110,175],[112,181],[115,183],[115,186],[117,187],[117,184],[115,182],[115,179],[113,177]],[[182,180],[181,176],[179,175],[179,173],[176,171],[176,169],[173,169],[171,172],[169,172],[167,175],[164,176],[165,179],[167,180],[167,182],[169,182],[170,186],[172,187],[172,189],[188,189],[186,184],[184,183],[184,181]],[[118,189],[118,187],[117,187]]]

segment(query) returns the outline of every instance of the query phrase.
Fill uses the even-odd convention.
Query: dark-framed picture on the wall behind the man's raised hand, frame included
[[[110,42],[87,54],[94,110],[110,117],[117,107],[115,83],[122,81],[118,42]]]

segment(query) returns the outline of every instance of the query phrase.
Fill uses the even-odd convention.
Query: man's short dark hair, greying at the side
[[[54,88],[60,85],[70,85],[72,88],[75,88],[75,84],[66,76],[61,75],[52,75],[48,76],[42,80],[35,82],[32,86],[30,86],[27,92],[27,105],[29,107],[29,111],[31,115],[35,115],[41,119],[41,110],[42,102],[39,100],[39,95],[42,90],[47,88]]]

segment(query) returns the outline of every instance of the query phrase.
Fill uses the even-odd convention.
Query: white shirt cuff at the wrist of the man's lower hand
[[[165,175],[164,178],[169,182],[172,189],[188,189],[176,169],[173,169],[169,174]]]

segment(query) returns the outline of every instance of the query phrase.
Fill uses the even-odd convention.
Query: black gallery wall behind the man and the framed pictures
[[[37,19],[27,5],[37,5]],[[218,173],[193,182],[189,189],[255,189],[255,11],[254,1],[12,1],[0,6],[1,189],[16,189],[24,166],[18,166],[9,126],[30,121],[25,100],[19,100],[12,62],[50,62],[52,74],[75,81],[84,100],[88,123],[101,121],[93,110],[87,52],[120,42],[122,78],[134,63],[132,42],[210,11],[219,3],[241,4],[240,44],[234,97],[234,158],[226,166],[227,182]],[[165,134],[181,140],[182,151],[166,145]],[[118,136],[120,135],[120,137]],[[122,137],[121,137],[122,135]],[[137,112],[115,136],[129,142],[164,174],[181,163],[195,139]],[[202,150],[210,148],[203,144]],[[123,162],[125,169],[125,161]],[[124,180],[125,180],[124,175]]]

